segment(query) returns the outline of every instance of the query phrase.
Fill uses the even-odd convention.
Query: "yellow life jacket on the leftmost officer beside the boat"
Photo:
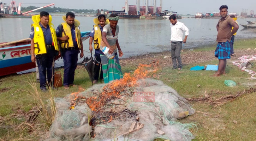
[[[45,54],[46,52],[46,44],[44,42],[44,36],[43,36],[43,30],[41,26],[39,25],[40,22],[40,15],[34,15],[32,16],[33,24],[31,24],[31,27],[34,27],[34,44],[35,44],[35,54]],[[49,15],[49,28],[52,35],[52,42],[54,45],[55,50],[59,50],[59,46],[57,43],[57,37],[56,32],[54,30],[54,26],[51,23],[52,22],[52,16]]]

